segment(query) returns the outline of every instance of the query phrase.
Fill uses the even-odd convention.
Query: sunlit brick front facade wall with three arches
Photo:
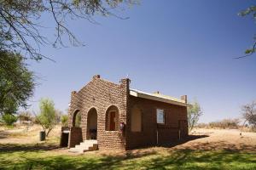
[[[93,79],[77,93],[72,93],[69,107],[69,127],[72,127],[73,113],[80,111],[82,120],[82,138],[86,139],[88,111],[97,111],[97,140],[99,149],[125,149],[125,138],[121,132],[106,131],[106,111],[111,105],[119,110],[119,122],[126,123],[126,111],[129,93],[129,80],[122,79],[120,84],[102,80],[99,76]]]

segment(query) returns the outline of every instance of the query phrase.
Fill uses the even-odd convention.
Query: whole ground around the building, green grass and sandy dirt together
[[[54,136],[38,144],[1,143],[0,138],[0,169],[256,169],[254,137],[247,138],[251,134],[237,137],[241,143],[237,143],[235,136],[227,143],[212,132],[175,146],[96,150],[82,155],[58,148]],[[20,139],[25,137],[21,135]],[[232,143],[233,139],[236,144]]]

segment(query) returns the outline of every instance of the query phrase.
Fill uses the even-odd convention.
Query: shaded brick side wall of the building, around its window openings
[[[142,111],[142,132],[131,132],[131,113],[127,114],[126,128],[126,149],[133,149],[140,146],[156,145],[157,131],[159,144],[172,143],[178,139],[179,120],[187,120],[187,109],[183,106],[166,104],[150,99],[141,99],[134,96],[129,98],[130,111],[137,105]],[[158,125],[156,123],[156,109],[165,111],[166,123]],[[183,137],[188,134],[188,130],[183,130]]]

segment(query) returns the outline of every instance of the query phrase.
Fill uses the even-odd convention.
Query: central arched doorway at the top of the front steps
[[[97,111],[95,108],[88,111],[86,139],[97,139]]]

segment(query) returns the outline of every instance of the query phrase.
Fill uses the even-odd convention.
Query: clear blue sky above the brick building
[[[256,56],[233,59],[253,43],[255,23],[237,15],[252,4],[147,0],[118,12],[129,20],[96,16],[99,25],[70,21],[70,29],[86,46],[44,46],[42,54],[56,63],[30,61],[41,77],[30,110],[37,111],[38,100],[48,97],[65,111],[71,91],[100,74],[113,82],[128,75],[131,88],[147,92],[187,94],[201,104],[201,122],[240,117],[241,105],[256,99]],[[47,16],[43,20],[52,23]],[[51,29],[44,33],[54,35]]]

